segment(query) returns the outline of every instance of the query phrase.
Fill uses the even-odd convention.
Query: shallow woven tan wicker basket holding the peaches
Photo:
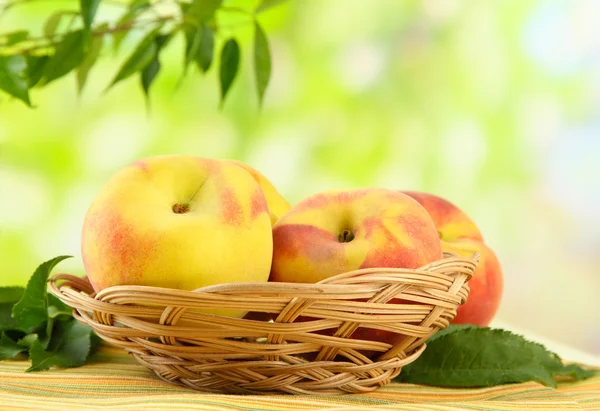
[[[230,283],[182,291],[57,274],[51,292],[106,342],[165,381],[239,394],[364,393],[388,384],[466,302],[479,256],[368,268],[317,284]],[[393,303],[388,303],[388,301]],[[211,310],[249,314],[233,318]]]

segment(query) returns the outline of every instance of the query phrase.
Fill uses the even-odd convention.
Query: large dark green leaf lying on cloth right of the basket
[[[561,359],[540,344],[504,330],[467,326],[430,339],[397,381],[488,387],[533,380],[554,387],[554,378],[563,370]]]

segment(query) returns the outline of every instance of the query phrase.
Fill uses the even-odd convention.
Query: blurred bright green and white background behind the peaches
[[[58,7],[14,7],[0,31],[41,33]],[[98,19],[121,11],[102,3]],[[214,67],[180,83],[183,36],[150,111],[137,79],[103,94],[139,36],[116,55],[106,44],[80,97],[74,75],[34,91],[35,109],[0,96],[0,285],[60,254],[82,274],[85,212],[129,162],[236,158],[292,203],[362,186],[448,198],[503,265],[494,324],[598,355],[598,15],[595,0],[292,0],[260,17],[273,55],[262,110],[247,21],[233,24],[242,67],[222,111]]]

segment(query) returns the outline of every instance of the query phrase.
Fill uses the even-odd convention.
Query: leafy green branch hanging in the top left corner
[[[0,19],[12,8],[35,0],[13,0],[0,4]],[[271,76],[271,54],[264,29],[257,16],[285,0],[262,0],[247,10],[223,4],[223,0],[171,1],[176,12],[161,14],[158,5],[167,0],[79,0],[78,10],[58,10],[45,21],[42,36],[31,36],[27,30],[0,33],[0,90],[32,106],[31,90],[41,88],[71,72],[76,72],[78,92],[84,89],[92,68],[112,40],[118,50],[132,31],[141,31],[142,39],[117,70],[107,89],[133,75],[149,97],[150,88],[161,69],[160,54],[170,40],[182,33],[186,47],[183,73],[190,65],[202,73],[213,66],[214,55],[220,55],[219,82],[221,106],[225,101],[240,65],[240,44],[235,37],[223,36],[226,27],[217,22],[218,13],[237,13],[249,17],[254,26],[254,72],[259,103]],[[124,10],[116,21],[96,21],[101,5],[120,6]],[[219,51],[220,47],[220,51]]]

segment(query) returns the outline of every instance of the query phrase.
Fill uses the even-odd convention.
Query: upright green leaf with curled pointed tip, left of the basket
[[[55,257],[41,264],[33,273],[23,296],[12,310],[12,315],[23,330],[34,328],[48,319],[48,294],[46,282],[52,269],[71,256]]]

